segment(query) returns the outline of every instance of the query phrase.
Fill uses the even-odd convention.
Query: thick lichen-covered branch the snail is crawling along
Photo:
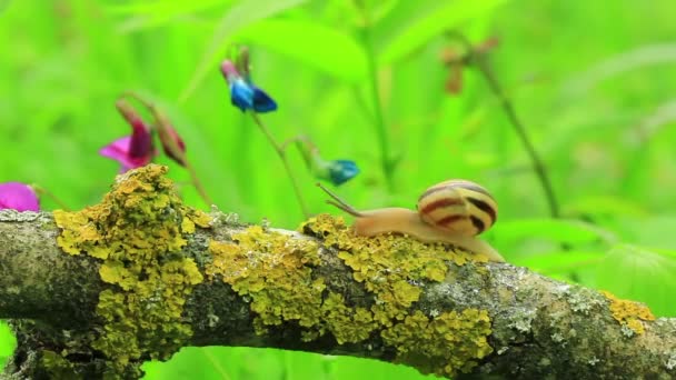
[[[183,206],[148,166],[79,212],[0,211],[9,378],[138,378],[183,346],[374,358],[445,377],[670,379],[676,319],[407,237]],[[1,378],[2,376],[0,376]]]

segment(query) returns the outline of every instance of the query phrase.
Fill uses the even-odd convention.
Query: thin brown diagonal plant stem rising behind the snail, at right
[[[521,143],[523,143],[524,148],[526,149],[526,152],[530,157],[530,161],[533,162],[533,169],[535,170],[535,173],[540,182],[540,186],[543,187],[543,190],[545,191],[545,197],[546,197],[547,203],[549,206],[549,213],[551,214],[553,218],[558,218],[560,216],[558,201],[554,193],[554,187],[551,186],[551,180],[549,179],[547,169],[546,169],[541,158],[537,153],[535,146],[530,141],[530,138],[528,136],[528,132],[526,131],[526,128],[524,127],[524,124],[521,123],[519,118],[517,117],[514,106],[511,104],[511,101],[505,94],[505,91],[500,87],[500,83],[498,82],[497,78],[493,73],[493,70],[490,69],[490,64],[488,63],[488,60],[487,60],[487,56],[485,53],[474,49],[471,43],[469,42],[469,40],[464,34],[455,32],[455,33],[453,33],[453,37],[457,38],[464,44],[464,48],[466,49],[467,53],[469,54],[469,57],[468,57],[469,61],[471,63],[476,64],[476,67],[481,72],[484,79],[486,80],[486,82],[488,82],[488,87],[493,91],[494,96],[500,102],[500,106],[503,107],[503,110],[507,114],[509,122],[511,123],[517,136],[521,140]]]

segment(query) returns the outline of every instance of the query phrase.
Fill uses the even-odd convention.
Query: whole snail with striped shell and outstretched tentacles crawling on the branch
[[[358,211],[334,192],[317,183],[332,200],[327,203],[356,218],[355,234],[372,237],[398,232],[422,242],[449,243],[470,252],[485,254],[490,261],[505,259],[476,236],[497,219],[497,202],[477,183],[453,179],[428,188],[418,199],[418,210],[385,208]]]

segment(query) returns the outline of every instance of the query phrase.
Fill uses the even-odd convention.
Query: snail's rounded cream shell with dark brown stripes
[[[497,219],[498,204],[483,187],[448,180],[427,189],[418,199],[420,219],[437,229],[475,236]]]

